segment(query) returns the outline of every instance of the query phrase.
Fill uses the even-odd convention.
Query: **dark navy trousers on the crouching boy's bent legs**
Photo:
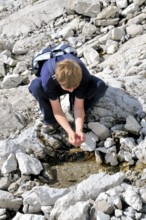
[[[89,87],[85,94],[84,99],[84,108],[85,111],[92,108],[94,104],[102,97],[104,96],[105,92],[107,90],[107,85],[99,78],[92,76],[91,82],[89,83]],[[45,94],[41,78],[38,77],[34,80],[32,80],[30,86],[29,86],[29,92],[33,95],[33,97],[37,100],[39,103],[40,110],[43,114],[43,122],[45,124],[53,124],[56,122],[52,107],[49,101],[48,96]],[[68,93],[68,92],[66,92]],[[60,94],[61,96],[62,94]],[[71,106],[74,103],[74,92],[70,93],[70,103]]]

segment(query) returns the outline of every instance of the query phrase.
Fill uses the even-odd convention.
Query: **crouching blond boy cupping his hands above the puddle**
[[[101,79],[90,75],[83,62],[72,54],[69,59],[68,54],[64,54],[56,57],[55,61],[53,73],[50,73],[48,68],[52,65],[51,59],[44,62],[40,77],[31,82],[29,91],[38,101],[43,114],[43,131],[54,133],[60,124],[68,134],[69,143],[80,146],[85,141],[85,112],[104,96],[107,85]],[[66,93],[74,97],[75,131],[67,121],[59,101],[59,97]]]

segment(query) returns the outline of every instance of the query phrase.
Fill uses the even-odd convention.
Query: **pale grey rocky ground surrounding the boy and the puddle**
[[[0,1],[0,219],[146,219],[145,21],[145,0]],[[41,132],[28,92],[32,56],[60,42],[108,85],[87,115],[78,150],[61,128]],[[67,95],[61,105],[73,123]],[[72,172],[72,186],[59,185],[52,164],[91,156],[118,172],[99,169],[80,183]]]

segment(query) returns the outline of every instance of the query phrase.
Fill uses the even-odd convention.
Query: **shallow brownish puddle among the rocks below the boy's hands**
[[[74,149],[72,153],[80,153],[82,150]],[[75,161],[61,162],[57,165],[52,165],[52,172],[55,177],[53,184],[49,184],[52,187],[65,188],[76,185],[84,179],[87,179],[92,174],[105,172],[108,174],[115,174],[117,172],[135,171],[141,173],[146,168],[146,164],[135,163],[129,165],[127,162],[119,163],[117,166],[111,166],[109,164],[98,164],[96,162],[93,152],[88,152],[84,157],[79,158]]]

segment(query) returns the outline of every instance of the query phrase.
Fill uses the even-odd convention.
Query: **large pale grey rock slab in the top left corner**
[[[57,1],[41,1],[35,5],[29,5],[18,12],[13,13],[7,18],[0,21],[1,36],[27,36],[34,31],[36,27],[41,27],[43,22],[48,23],[63,13],[63,4]],[[48,14],[48,11],[51,12]],[[19,20],[17,19],[19,16]]]

